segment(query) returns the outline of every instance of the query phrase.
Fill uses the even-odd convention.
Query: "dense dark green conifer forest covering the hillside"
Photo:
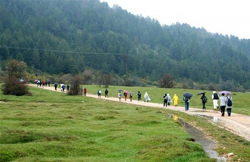
[[[250,40],[171,26],[99,0],[1,0],[0,65],[250,87]],[[223,87],[221,87],[223,88]]]

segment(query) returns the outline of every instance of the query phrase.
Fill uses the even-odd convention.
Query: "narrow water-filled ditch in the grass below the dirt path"
[[[204,151],[210,158],[217,159],[217,161],[219,162],[227,161],[225,157],[220,157],[218,152],[214,150],[214,148],[216,147],[216,143],[213,140],[206,138],[205,134],[202,131],[186,123],[184,120],[178,118],[176,115],[169,114],[169,117],[173,118],[175,121],[180,122],[185,127],[187,133],[195,139],[195,142],[202,145]]]

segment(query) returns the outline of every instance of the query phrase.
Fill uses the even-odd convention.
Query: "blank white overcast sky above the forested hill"
[[[208,32],[250,39],[250,0],[100,0],[162,25],[187,23]]]

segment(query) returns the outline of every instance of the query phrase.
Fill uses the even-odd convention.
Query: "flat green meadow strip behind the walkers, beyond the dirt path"
[[[104,91],[106,88],[99,87],[97,85],[83,85],[83,88],[87,88],[89,93],[97,94],[97,90],[101,89],[102,95],[104,95]],[[213,101],[212,101],[212,93],[213,91],[203,91],[203,90],[187,90],[187,89],[170,89],[170,88],[156,88],[156,87],[122,87],[122,86],[109,86],[109,96],[117,97],[118,89],[127,90],[133,92],[133,98],[137,100],[137,92],[140,91],[142,93],[142,100],[145,92],[148,92],[148,95],[151,99],[151,102],[154,103],[163,103],[163,95],[165,93],[169,93],[173,98],[174,94],[177,94],[179,97],[179,106],[184,107],[184,101],[182,100],[183,94],[185,92],[190,92],[193,94],[193,97],[190,100],[190,107],[202,108],[201,96],[197,95],[199,92],[206,92],[207,96],[207,109],[213,109]],[[217,91],[218,93],[218,91]],[[231,94],[233,98],[233,109],[232,113],[246,114],[250,115],[250,93],[242,93],[242,92],[232,92]]]

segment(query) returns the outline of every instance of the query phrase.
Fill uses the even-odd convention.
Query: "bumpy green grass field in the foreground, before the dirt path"
[[[90,92],[91,88],[94,93],[98,87],[89,86]],[[117,95],[116,88],[109,88],[110,95]],[[149,89],[149,95],[164,90]],[[42,88],[31,87],[30,92],[31,96],[0,92],[0,161],[215,161],[168,113],[212,132],[221,142],[221,154],[234,152],[242,161],[250,159],[248,141],[205,119]],[[160,102],[161,94],[153,101]]]

